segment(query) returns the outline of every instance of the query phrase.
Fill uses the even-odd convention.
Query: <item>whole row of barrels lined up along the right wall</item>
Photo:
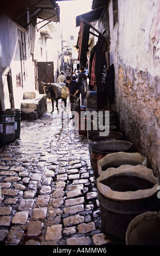
[[[99,124],[99,111],[88,110],[97,112]],[[118,113],[107,109],[100,111],[104,120],[109,114],[108,135],[103,136],[101,129],[94,129],[93,119],[87,137],[97,182],[101,230],[118,244],[160,245],[156,228],[160,227],[159,180],[147,167],[146,157],[136,152],[120,132]],[[145,223],[149,223],[147,227]]]

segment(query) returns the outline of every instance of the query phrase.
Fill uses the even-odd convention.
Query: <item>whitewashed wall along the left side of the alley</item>
[[[30,25],[32,26],[32,25]],[[23,66],[23,88],[17,87],[16,75],[21,74],[21,58],[20,58],[20,31],[19,26],[9,17],[1,15],[0,17],[0,38],[1,38],[1,57],[0,57],[0,87],[1,93],[4,92],[4,100],[2,109],[10,108],[9,92],[7,76],[2,75],[4,68],[11,68],[14,103],[15,108],[21,107],[24,91],[35,90],[34,62],[30,54],[30,27],[28,31],[24,31],[26,38],[26,59],[22,60]],[[25,79],[24,79],[25,77]]]

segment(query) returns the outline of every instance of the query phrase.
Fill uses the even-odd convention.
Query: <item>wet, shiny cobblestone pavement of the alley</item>
[[[48,102],[40,119],[21,121],[20,139],[0,148],[1,245],[114,244],[101,232],[88,139],[70,118],[64,125],[58,104],[59,114]]]

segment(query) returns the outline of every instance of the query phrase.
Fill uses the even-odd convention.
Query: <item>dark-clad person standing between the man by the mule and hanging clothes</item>
[[[85,92],[85,88],[87,88],[87,76],[84,74],[84,69],[79,68],[80,73],[78,74],[77,82],[79,85],[79,92],[81,92],[81,105],[84,105],[84,99],[87,92]]]

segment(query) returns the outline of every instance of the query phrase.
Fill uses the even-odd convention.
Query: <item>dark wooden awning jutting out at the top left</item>
[[[25,17],[27,26],[37,17],[47,21],[60,21],[60,10],[56,0],[7,0],[3,3],[1,11],[17,23]]]

